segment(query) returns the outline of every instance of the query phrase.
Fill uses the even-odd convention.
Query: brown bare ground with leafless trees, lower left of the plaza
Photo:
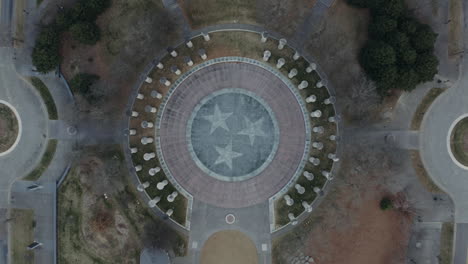
[[[149,223],[169,241],[160,248],[185,254],[185,238],[149,212],[124,171],[119,146],[83,150],[58,192],[59,263],[137,264]]]

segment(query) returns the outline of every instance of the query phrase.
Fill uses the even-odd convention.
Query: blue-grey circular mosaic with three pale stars
[[[187,137],[191,156],[205,173],[223,181],[242,181],[273,160],[279,131],[261,98],[243,89],[223,89],[195,107]]]

